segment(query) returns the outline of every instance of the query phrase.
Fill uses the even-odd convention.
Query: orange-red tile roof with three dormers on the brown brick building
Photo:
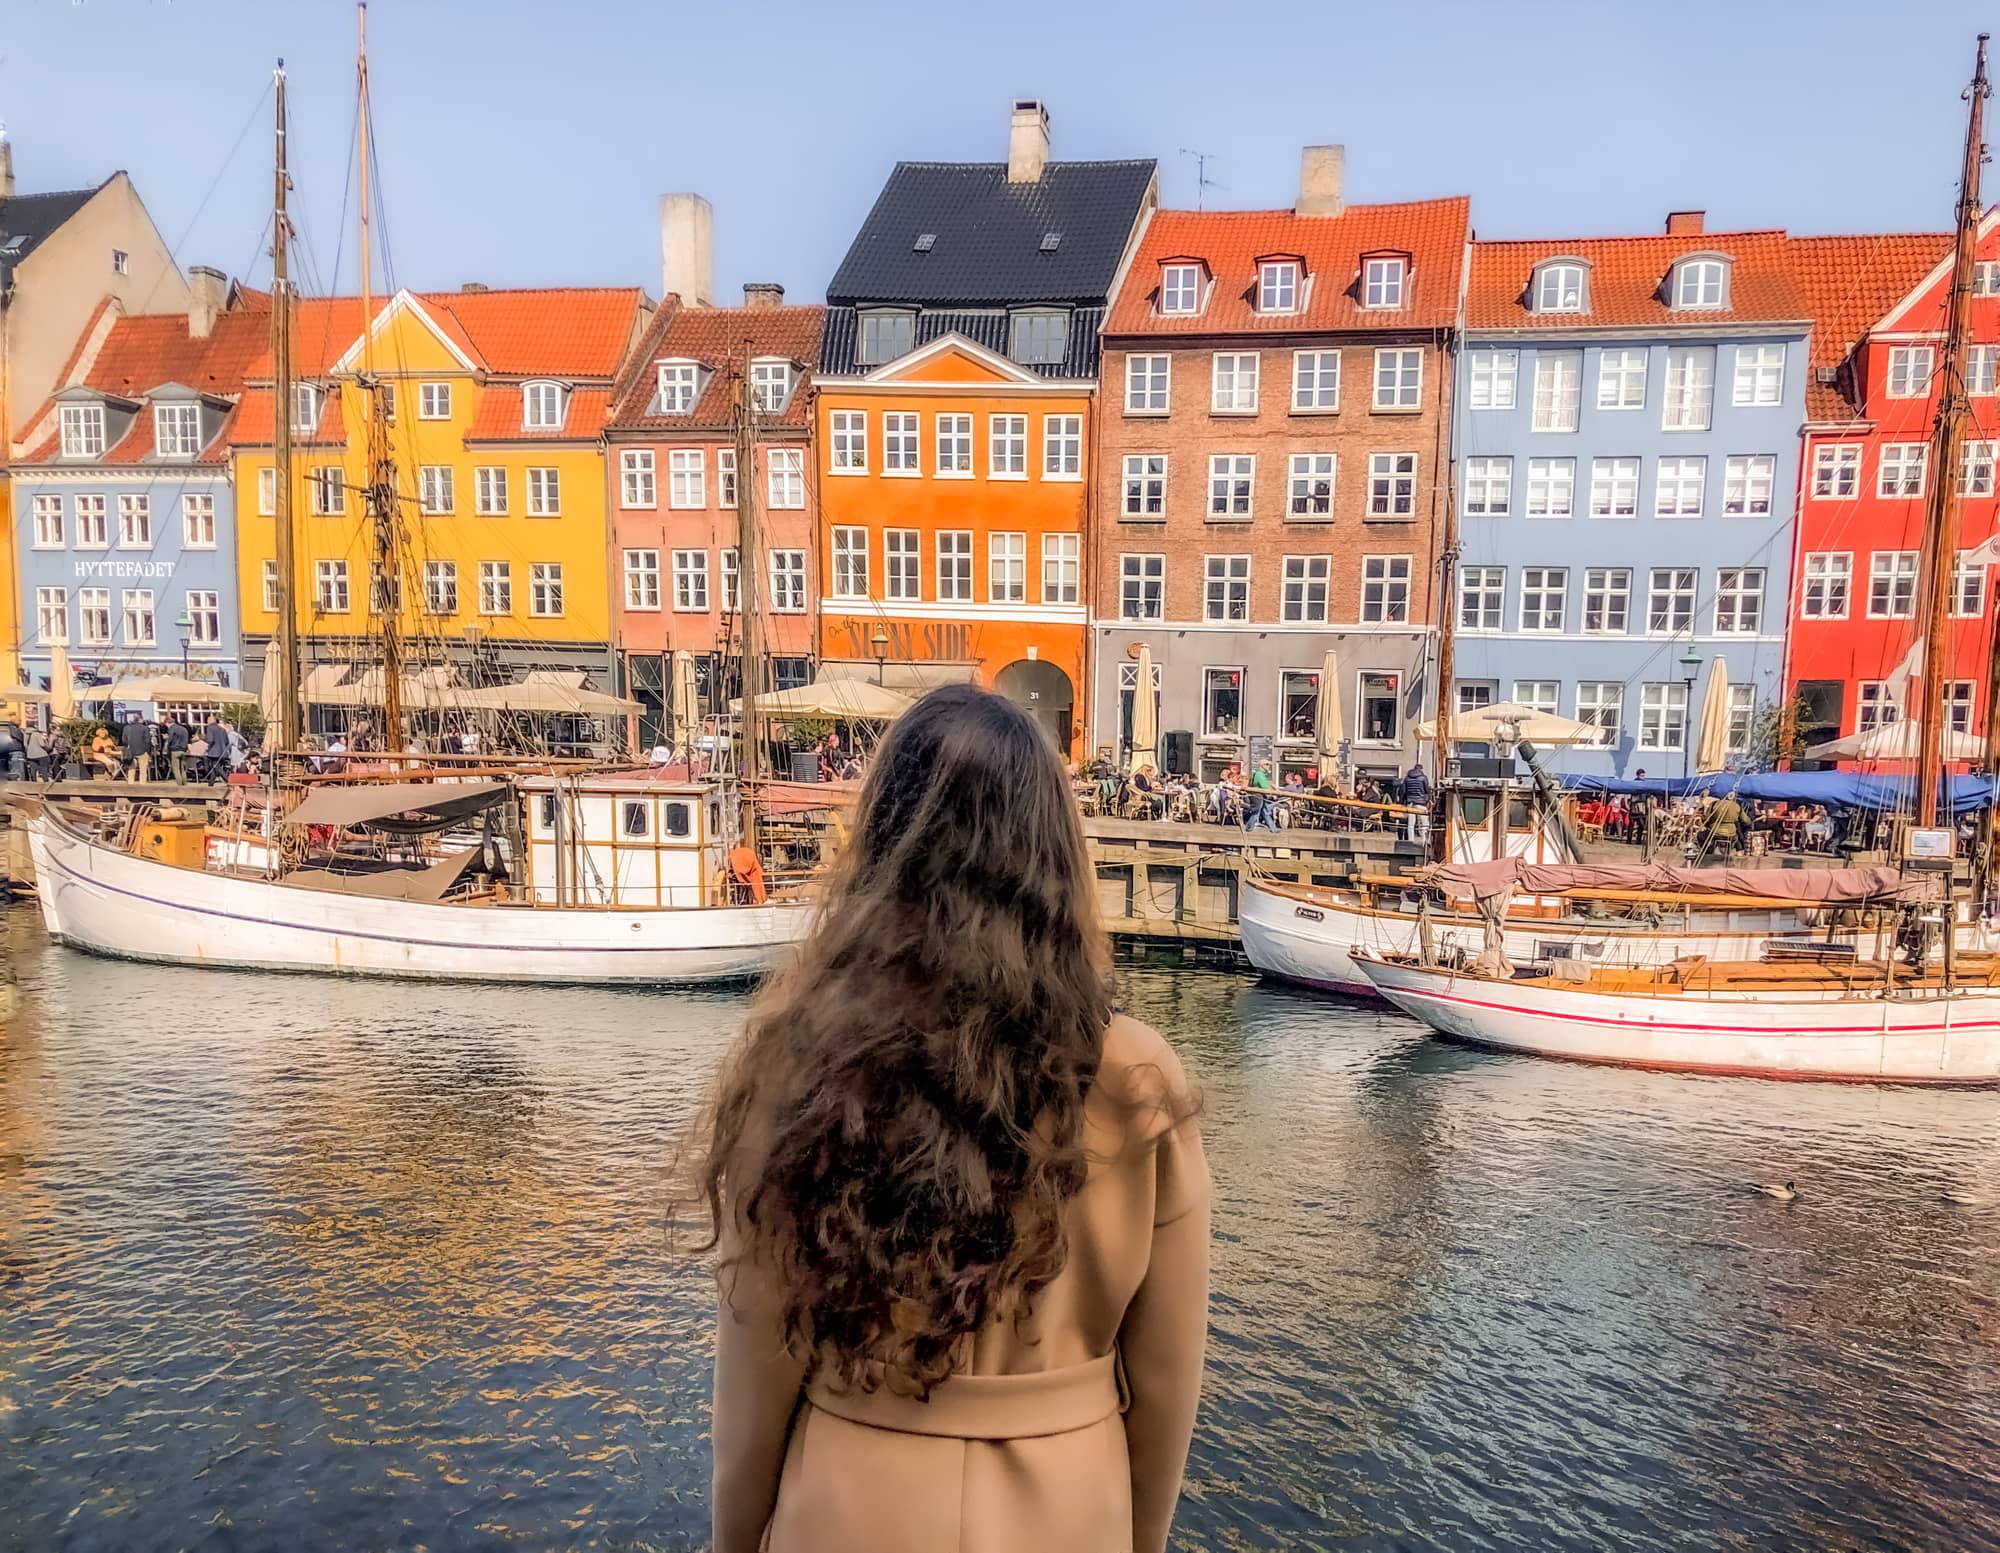
[[[1450,328],[1470,234],[1470,200],[1350,204],[1338,216],[1292,210],[1160,210],[1104,318],[1104,334],[1296,334],[1302,330]],[[1300,312],[1254,306],[1256,260],[1296,254],[1312,288]],[[1362,308],[1364,254],[1410,256],[1410,304]],[[1200,258],[1214,274],[1208,306],[1160,316],[1160,262]]]

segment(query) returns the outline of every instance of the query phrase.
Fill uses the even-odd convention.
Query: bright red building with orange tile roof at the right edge
[[[1946,696],[1954,726],[1982,734],[1994,644],[1994,590],[1982,546],[1990,546],[2000,520],[1996,216],[1980,224],[1974,344],[1964,362],[1972,420],[1958,470],[1928,468],[1950,234],[1794,238],[1792,254],[1814,312],[1786,666],[1804,738],[1812,744],[1908,714],[1920,684],[1912,646],[1924,598],[1924,504],[1940,476],[1958,478],[1962,492]]]

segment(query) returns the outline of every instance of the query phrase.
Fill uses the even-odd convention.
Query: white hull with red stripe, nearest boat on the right
[[[1644,997],[1496,983],[1366,951],[1356,965],[1438,1035],[1496,1051],[1770,1079],[2000,1081],[2000,991]]]

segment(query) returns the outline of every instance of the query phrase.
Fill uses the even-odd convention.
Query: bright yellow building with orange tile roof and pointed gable
[[[308,670],[376,662],[388,600],[410,664],[472,682],[608,674],[598,434],[648,312],[636,288],[396,292],[364,340],[358,300],[300,304],[292,592]],[[366,500],[370,400],[396,492],[386,546]],[[278,624],[274,428],[266,360],[230,428],[252,684]],[[378,552],[394,556],[394,588],[372,584]]]

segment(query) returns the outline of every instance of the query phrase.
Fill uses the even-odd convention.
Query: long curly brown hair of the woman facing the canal
[[[928,1395],[1062,1271],[1110,1015],[1052,742],[1002,696],[934,690],[724,1065],[698,1163],[724,1289],[754,1257],[810,1377]]]

